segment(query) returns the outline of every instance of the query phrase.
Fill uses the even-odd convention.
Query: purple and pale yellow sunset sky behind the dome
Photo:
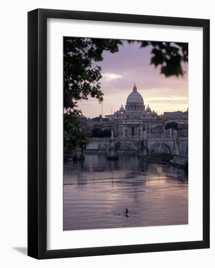
[[[128,44],[115,54],[103,53],[104,60],[97,62],[102,67],[101,90],[104,93],[103,115],[125,107],[127,96],[132,92],[134,82],[143,96],[145,108],[159,115],[163,112],[186,111],[188,107],[188,75],[184,77],[164,77],[160,68],[150,65],[151,47],[140,48],[140,44]],[[188,72],[188,64],[183,65]],[[93,98],[78,103],[78,108],[87,117],[99,116],[101,104]]]

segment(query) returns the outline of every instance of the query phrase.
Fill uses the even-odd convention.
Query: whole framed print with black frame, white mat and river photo
[[[206,249],[208,19],[28,13],[28,255]]]

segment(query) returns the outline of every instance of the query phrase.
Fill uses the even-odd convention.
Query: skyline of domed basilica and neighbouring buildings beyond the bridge
[[[85,122],[84,118],[86,117],[80,118],[81,122]],[[151,110],[149,105],[145,109],[143,97],[134,84],[133,91],[127,97],[125,108],[122,104],[118,111],[107,115],[104,121],[102,118],[100,121],[93,121],[89,118],[86,119],[86,124],[89,131],[93,128],[108,129],[114,132],[115,137],[143,137],[147,134],[163,133],[169,121],[177,123],[181,136],[188,135],[188,110],[186,112],[164,112],[161,116]],[[185,124],[186,126],[184,126]]]

